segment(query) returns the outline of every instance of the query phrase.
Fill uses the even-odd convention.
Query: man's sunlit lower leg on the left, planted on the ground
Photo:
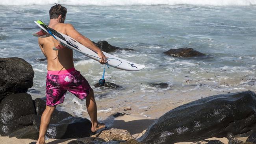
[[[45,144],[45,134],[50,123],[52,113],[54,112],[55,106],[47,106],[41,117],[41,124],[39,129],[39,138],[36,144]]]

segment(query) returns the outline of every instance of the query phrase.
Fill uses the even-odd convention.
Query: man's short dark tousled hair
[[[60,4],[56,4],[56,3],[55,3],[55,6],[51,7],[49,11],[50,19],[58,18],[59,15],[62,15],[62,17],[65,17],[66,13],[67,13],[66,7],[63,7]]]

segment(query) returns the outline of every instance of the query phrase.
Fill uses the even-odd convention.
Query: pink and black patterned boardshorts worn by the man
[[[82,100],[89,94],[91,87],[75,68],[61,71],[48,70],[46,76],[46,105],[54,106],[63,103],[67,90]]]

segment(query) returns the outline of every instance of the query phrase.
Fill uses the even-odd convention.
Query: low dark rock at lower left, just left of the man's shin
[[[39,137],[39,131],[33,126],[28,126],[11,133],[9,137],[30,138],[37,140]]]

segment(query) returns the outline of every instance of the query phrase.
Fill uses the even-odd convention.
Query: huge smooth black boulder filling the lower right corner
[[[173,144],[225,137],[228,132],[248,136],[256,128],[256,94],[251,91],[215,95],[181,105],[150,125],[139,141]]]

